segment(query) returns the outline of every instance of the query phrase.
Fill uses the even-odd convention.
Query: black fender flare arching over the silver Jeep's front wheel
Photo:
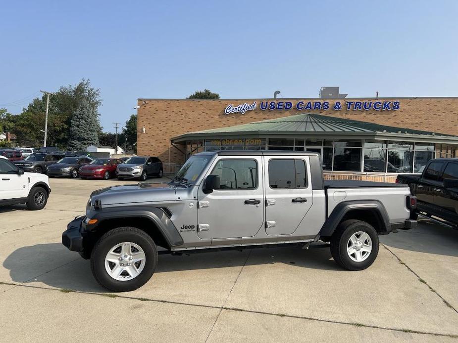
[[[89,217],[97,219],[97,223],[93,225],[86,224],[86,229],[89,231],[97,230],[97,226],[103,224],[103,221],[107,219],[146,218],[158,228],[170,247],[183,244],[183,238],[177,228],[160,208],[151,206],[104,207],[102,210],[91,212]]]

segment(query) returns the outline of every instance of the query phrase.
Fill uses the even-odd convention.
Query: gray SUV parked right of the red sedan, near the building
[[[157,157],[134,156],[116,168],[119,180],[135,178],[145,181],[148,176],[162,177],[162,161]]]

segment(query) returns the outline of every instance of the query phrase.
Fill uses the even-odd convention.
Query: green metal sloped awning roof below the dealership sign
[[[320,114],[298,114],[236,125],[226,128],[209,129],[182,134],[171,138],[172,143],[193,139],[216,139],[228,137],[264,138],[264,137],[310,136],[313,138],[351,138],[351,139],[386,139],[424,141],[458,144],[458,136],[405,129],[361,122],[346,118],[336,118]]]

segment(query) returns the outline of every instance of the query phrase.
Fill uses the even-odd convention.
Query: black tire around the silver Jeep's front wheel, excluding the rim
[[[136,277],[130,280],[116,280],[105,269],[105,257],[117,244],[131,242],[145,253],[145,265]],[[118,227],[105,233],[97,241],[91,254],[91,270],[97,282],[113,292],[129,292],[142,287],[153,276],[157,265],[157,249],[153,239],[135,227]]]

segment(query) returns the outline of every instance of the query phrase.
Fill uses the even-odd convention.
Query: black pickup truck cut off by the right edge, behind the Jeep
[[[431,160],[421,175],[400,174],[396,182],[409,185],[412,195],[417,197],[413,216],[439,218],[458,229],[458,158]]]

